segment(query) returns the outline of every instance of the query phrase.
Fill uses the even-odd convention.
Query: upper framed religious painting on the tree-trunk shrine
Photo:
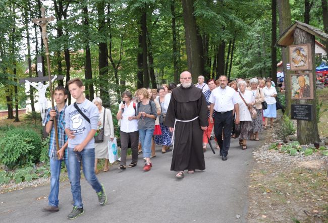
[[[289,46],[289,57],[292,71],[312,70],[311,44]]]

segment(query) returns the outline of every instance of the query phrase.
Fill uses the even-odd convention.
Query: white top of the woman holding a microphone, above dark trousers
[[[130,101],[130,105],[127,106],[127,104],[125,104],[125,108],[124,108],[124,112],[122,114],[123,118],[121,120],[121,131],[122,132],[135,132],[138,131],[138,120],[133,119],[133,120],[129,120],[128,118],[131,116],[135,116],[136,115],[136,111],[133,108],[133,103],[136,106],[137,109],[137,103]],[[122,102],[119,105],[119,109],[121,109],[121,105]]]

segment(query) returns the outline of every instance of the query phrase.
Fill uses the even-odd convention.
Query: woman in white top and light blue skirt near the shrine
[[[263,93],[265,101],[267,103],[267,109],[263,110],[264,129],[267,126],[267,118],[270,118],[270,128],[274,126],[274,119],[277,118],[277,108],[276,108],[276,96],[277,90],[275,87],[271,86],[271,80],[268,78],[265,81],[265,87],[263,88]]]

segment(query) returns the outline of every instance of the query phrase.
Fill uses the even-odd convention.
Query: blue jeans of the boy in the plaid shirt
[[[62,161],[65,161],[66,169],[68,176],[70,178],[69,173],[69,164],[68,159],[61,160],[61,159],[51,159],[50,158],[50,193],[48,197],[48,205],[50,206],[58,206],[58,194],[59,194],[59,177],[61,175],[62,169]]]

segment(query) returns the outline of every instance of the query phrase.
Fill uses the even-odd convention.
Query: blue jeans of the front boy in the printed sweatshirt
[[[102,191],[101,184],[94,173],[94,149],[83,149],[81,152],[74,152],[73,148],[67,149],[74,206],[81,208],[83,207],[80,185],[81,163],[85,179],[97,193]]]

